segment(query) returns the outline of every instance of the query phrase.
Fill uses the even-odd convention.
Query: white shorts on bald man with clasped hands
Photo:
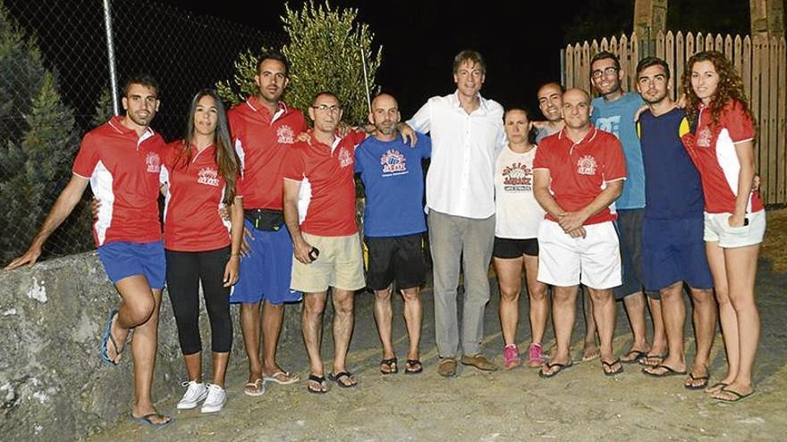
[[[621,250],[612,221],[584,226],[585,238],[571,238],[557,222],[538,227],[538,277],[545,284],[580,284],[602,290],[622,284]]]

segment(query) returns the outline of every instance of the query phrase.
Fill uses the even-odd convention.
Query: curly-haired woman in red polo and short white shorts
[[[755,123],[740,76],[724,54],[694,54],[683,74],[683,92],[690,133],[682,139],[702,180],[707,262],[727,353],[726,376],[707,392],[737,402],[754,393],[759,340],[754,284],[766,213],[752,192]]]

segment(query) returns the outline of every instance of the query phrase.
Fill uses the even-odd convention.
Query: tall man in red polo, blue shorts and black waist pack
[[[295,136],[306,130],[303,113],[280,101],[287,87],[289,63],[282,54],[262,54],[254,78],[258,96],[227,113],[235,151],[241,161],[238,196],[242,197],[249,251],[241,258],[241,278],[230,302],[241,303],[241,330],[249,358],[243,392],[265,393],[265,382],[286,385],[298,375],[276,363],[284,303],[300,300],[290,289],[292,239],[283,221],[283,167]],[[260,301],[263,302],[260,320]],[[259,338],[262,331],[263,357]]]

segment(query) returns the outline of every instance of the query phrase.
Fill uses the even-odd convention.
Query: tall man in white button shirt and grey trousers
[[[434,96],[408,121],[429,132],[432,161],[427,172],[429,246],[435,280],[437,373],[456,374],[461,362],[482,371],[497,366],[481,354],[487,271],[495,241],[495,159],[504,146],[503,106],[479,94],[487,64],[476,51],[453,59],[456,92]],[[460,264],[464,271],[461,341],[457,315]]]

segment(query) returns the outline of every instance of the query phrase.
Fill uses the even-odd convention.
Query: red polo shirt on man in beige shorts
[[[355,223],[355,147],[366,138],[351,132],[327,146],[311,135],[311,144],[290,149],[284,178],[302,180],[298,209],[300,230],[321,237],[358,232]],[[304,218],[305,216],[305,218]]]

